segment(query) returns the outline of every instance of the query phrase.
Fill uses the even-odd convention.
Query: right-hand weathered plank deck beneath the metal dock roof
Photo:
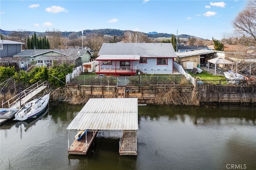
[[[119,154],[137,155],[137,146],[137,131],[124,130]]]

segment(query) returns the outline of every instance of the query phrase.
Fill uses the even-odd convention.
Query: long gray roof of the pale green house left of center
[[[76,55],[83,56],[86,51],[92,54],[88,49],[25,49],[20,53],[14,55],[14,57],[35,57],[37,55],[42,55],[44,53],[48,53],[50,51],[54,51],[56,53],[60,53],[62,55]],[[78,53],[79,51],[79,53]]]

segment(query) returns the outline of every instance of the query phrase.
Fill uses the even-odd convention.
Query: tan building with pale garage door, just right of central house
[[[214,58],[214,53],[217,52],[219,51],[200,49],[184,53],[177,53],[177,63],[182,65],[184,69],[193,69],[198,65],[206,65],[208,59]]]

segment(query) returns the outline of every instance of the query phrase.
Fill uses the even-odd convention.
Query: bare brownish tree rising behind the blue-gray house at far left
[[[10,40],[25,43],[25,44],[22,44],[22,49],[26,49],[27,38],[29,35],[30,35],[30,32],[26,30],[17,30],[9,34]]]

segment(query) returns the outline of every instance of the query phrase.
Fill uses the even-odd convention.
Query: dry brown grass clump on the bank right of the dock
[[[200,106],[200,94],[193,88],[188,95],[182,95],[177,88],[160,91],[155,99],[149,100],[148,104],[155,105],[194,105]]]

